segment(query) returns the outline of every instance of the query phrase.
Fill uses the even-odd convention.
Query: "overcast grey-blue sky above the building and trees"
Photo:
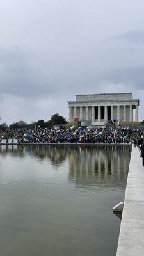
[[[76,94],[132,92],[144,119],[143,0],[0,0],[0,115],[68,118]]]

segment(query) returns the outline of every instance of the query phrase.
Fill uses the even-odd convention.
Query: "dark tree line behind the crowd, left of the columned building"
[[[5,131],[6,129],[22,129],[22,128],[28,128],[28,129],[35,129],[40,128],[52,128],[54,125],[65,125],[67,124],[66,118],[61,116],[60,114],[56,113],[51,116],[51,119],[45,122],[43,119],[38,120],[36,122],[31,122],[30,124],[27,124],[24,121],[19,122],[13,122],[10,125],[7,125],[6,122],[1,123],[0,130]]]

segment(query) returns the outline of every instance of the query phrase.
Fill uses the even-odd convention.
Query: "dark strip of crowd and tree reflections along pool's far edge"
[[[101,151],[102,150],[102,151]],[[122,145],[0,145],[0,154],[4,156],[6,153],[12,154],[12,156],[24,156],[25,154],[31,154],[40,159],[44,159],[45,157],[49,157],[53,163],[58,164],[58,161],[64,161],[67,156],[73,157],[73,159],[91,159],[91,157],[101,157],[103,158],[104,163],[108,161],[111,165],[111,159],[115,159],[125,154],[125,157],[129,157],[131,152],[131,147],[129,146],[122,146]],[[104,155],[104,156],[102,156]],[[127,161],[127,159],[125,160]],[[90,161],[89,161],[90,163]],[[111,169],[111,168],[109,168]]]

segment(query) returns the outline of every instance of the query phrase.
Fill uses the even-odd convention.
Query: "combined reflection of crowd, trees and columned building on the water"
[[[6,145],[0,147],[0,154],[1,157],[11,154],[20,158],[30,155],[41,161],[50,159],[57,166],[68,158],[70,182],[76,182],[76,186],[95,186],[99,182],[100,186],[109,186],[113,177],[116,185],[123,178],[126,180],[130,150],[129,146],[118,145]]]

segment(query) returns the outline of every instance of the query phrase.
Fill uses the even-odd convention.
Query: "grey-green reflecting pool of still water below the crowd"
[[[1,256],[113,256],[131,148],[0,147]]]

